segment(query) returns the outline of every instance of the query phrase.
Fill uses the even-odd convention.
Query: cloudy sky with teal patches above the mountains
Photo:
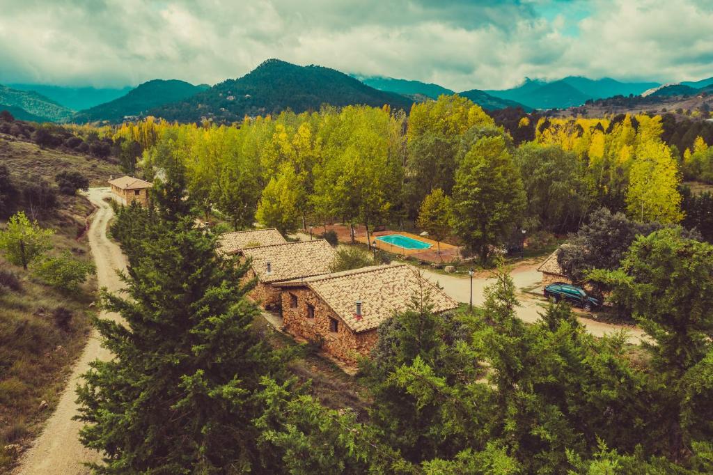
[[[709,0],[0,0],[0,83],[210,83],[267,58],[456,91],[713,76]]]

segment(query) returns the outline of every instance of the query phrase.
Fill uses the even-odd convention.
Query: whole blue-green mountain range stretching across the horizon
[[[322,66],[297,66],[269,59],[255,70],[215,86],[194,86],[185,81],[160,80],[136,88],[71,88],[33,84],[0,86],[0,108],[28,121],[108,121],[127,116],[158,116],[170,121],[197,122],[211,118],[240,121],[245,116],[265,116],[286,109],[317,111],[325,104],[341,107],[366,104],[410,111],[414,102],[430,101],[455,93],[434,83],[385,76],[349,76]],[[488,110],[520,107],[525,111],[569,108],[586,101],[615,96],[650,96],[651,101],[671,96],[713,92],[713,78],[661,85],[627,83],[612,78],[568,76],[557,81],[525,78],[520,85],[500,90],[472,89],[458,94]],[[79,112],[74,112],[82,109]]]

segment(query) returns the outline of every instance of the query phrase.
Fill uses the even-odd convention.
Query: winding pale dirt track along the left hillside
[[[94,262],[96,262],[97,280],[99,287],[107,287],[116,291],[123,287],[123,283],[116,275],[116,269],[125,269],[126,260],[118,245],[106,237],[106,228],[113,216],[111,206],[103,201],[109,196],[108,188],[91,188],[88,198],[98,207],[91,226],[88,239]],[[117,319],[118,315],[102,312],[101,317]],[[83,462],[96,461],[99,454],[86,449],[79,442],[78,434],[81,422],[73,421],[77,414],[75,389],[80,382],[81,374],[89,369],[89,362],[94,359],[108,359],[110,354],[101,347],[98,334],[93,331],[83,354],[76,363],[66,388],[59,400],[57,409],[48,419],[42,434],[34,445],[26,451],[14,474],[87,474],[89,473]]]

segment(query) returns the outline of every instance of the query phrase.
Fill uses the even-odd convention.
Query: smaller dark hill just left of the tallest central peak
[[[206,88],[205,85],[193,86],[191,83],[178,81],[178,79],[168,81],[153,79],[153,81],[140,84],[125,96],[76,113],[73,121],[78,123],[120,122],[125,116],[143,115],[149,109],[181,101],[200,91],[205,91]]]

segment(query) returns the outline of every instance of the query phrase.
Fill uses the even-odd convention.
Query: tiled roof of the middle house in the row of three
[[[260,282],[279,282],[312,275],[327,274],[337,253],[324,239],[314,241],[285,242],[242,250],[252,259]],[[270,273],[267,273],[270,262]]]

